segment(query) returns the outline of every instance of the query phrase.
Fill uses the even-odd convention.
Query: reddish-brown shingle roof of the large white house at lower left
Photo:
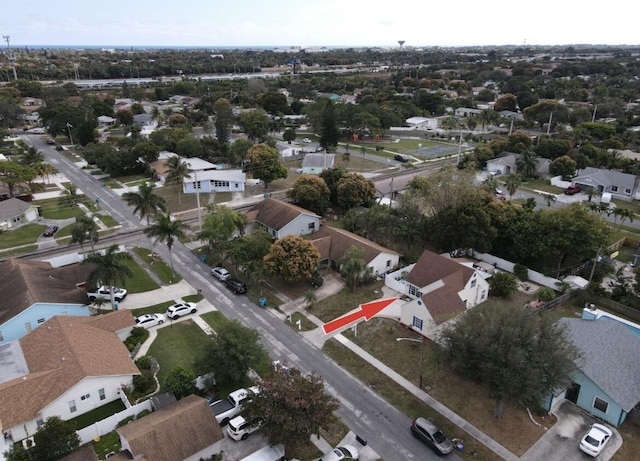
[[[131,312],[124,309],[96,317],[56,316],[21,338],[29,373],[0,384],[2,425],[31,421],[85,378],[140,374],[113,329],[126,314],[133,326]],[[118,320],[101,318],[107,316]]]

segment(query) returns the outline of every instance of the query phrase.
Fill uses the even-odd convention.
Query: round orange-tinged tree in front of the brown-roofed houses
[[[298,235],[276,240],[264,257],[267,270],[288,283],[310,279],[319,260],[320,253],[313,243]]]

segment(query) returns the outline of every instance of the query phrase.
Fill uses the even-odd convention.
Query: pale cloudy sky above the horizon
[[[4,0],[21,45],[637,45],[640,4],[562,0]],[[633,6],[636,5],[636,6]],[[635,11],[633,11],[635,10]],[[6,46],[3,41],[1,46]]]

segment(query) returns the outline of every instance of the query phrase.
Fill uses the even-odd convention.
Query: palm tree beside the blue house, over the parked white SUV
[[[81,264],[93,264],[94,268],[87,276],[87,285],[95,287],[105,285],[110,288],[116,282],[125,284],[126,279],[133,277],[133,271],[125,264],[131,260],[131,255],[126,251],[119,251],[118,245],[111,245],[104,252],[92,251],[84,257]],[[111,305],[115,306],[113,289],[109,290]]]

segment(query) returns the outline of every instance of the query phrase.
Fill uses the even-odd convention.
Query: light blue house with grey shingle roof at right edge
[[[550,396],[547,410],[562,399],[613,426],[640,403],[640,338],[615,320],[563,318],[581,357],[572,383]]]

